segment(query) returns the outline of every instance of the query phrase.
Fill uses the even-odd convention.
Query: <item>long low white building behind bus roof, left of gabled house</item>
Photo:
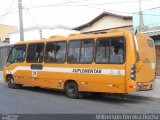
[[[24,29],[24,40],[40,40],[47,39],[53,35],[67,36],[70,33],[77,33],[77,31],[72,30],[72,28],[67,26],[33,26]],[[20,32],[19,30],[10,33],[10,43],[14,44],[20,42]]]

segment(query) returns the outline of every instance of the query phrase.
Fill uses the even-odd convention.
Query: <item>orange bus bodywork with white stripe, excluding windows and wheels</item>
[[[137,83],[151,84],[154,79],[153,69],[155,63],[154,48],[148,48],[142,42],[138,42],[140,49],[142,67],[136,72],[136,80],[131,79],[131,65],[137,64],[136,50],[132,32],[128,31],[114,31],[107,34],[97,34],[92,36],[75,36],[68,38],[44,40],[44,43],[53,41],[69,41],[76,39],[94,39],[104,37],[124,37],[125,38],[125,61],[123,64],[97,64],[94,61],[88,64],[74,64],[74,63],[14,63],[4,68],[4,81],[7,75],[12,75],[16,84],[40,86],[55,89],[64,89],[65,82],[74,80],[78,84],[79,91],[83,92],[109,92],[109,93],[129,93],[136,92]],[[139,36],[137,36],[139,39]],[[141,39],[144,40],[143,35]],[[43,41],[37,41],[42,43]],[[30,44],[34,42],[20,42],[19,44]],[[148,61],[145,63],[146,56],[143,52],[149,50],[147,56]],[[95,52],[95,51],[94,51]],[[41,65],[42,69],[32,69],[32,65]],[[145,74],[149,72],[147,76]]]

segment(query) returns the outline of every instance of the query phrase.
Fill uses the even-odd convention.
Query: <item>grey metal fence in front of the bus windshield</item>
[[[8,55],[10,45],[0,47],[0,70],[3,70],[6,57]]]

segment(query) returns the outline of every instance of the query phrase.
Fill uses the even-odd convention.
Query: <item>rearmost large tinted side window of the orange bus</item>
[[[96,44],[97,63],[123,63],[125,58],[124,38],[100,38]]]

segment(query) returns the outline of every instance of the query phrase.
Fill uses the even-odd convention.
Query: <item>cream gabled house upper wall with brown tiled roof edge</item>
[[[132,16],[103,12],[88,23],[73,29],[80,31],[81,33],[96,33],[115,28],[133,30]]]

